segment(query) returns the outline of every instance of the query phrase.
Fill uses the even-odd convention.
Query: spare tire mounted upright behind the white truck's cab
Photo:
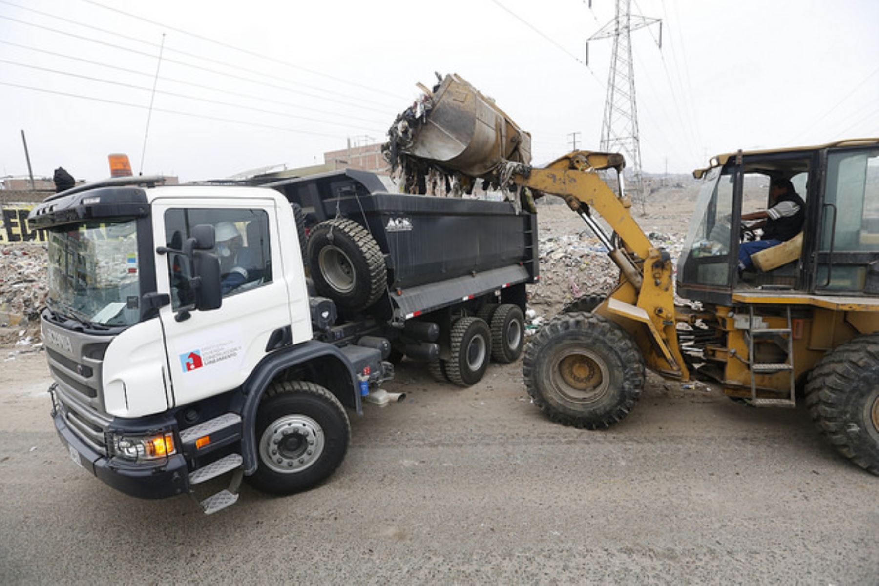
[[[317,292],[339,307],[366,309],[388,286],[384,255],[356,221],[336,218],[317,224],[309,235],[308,259]]]

